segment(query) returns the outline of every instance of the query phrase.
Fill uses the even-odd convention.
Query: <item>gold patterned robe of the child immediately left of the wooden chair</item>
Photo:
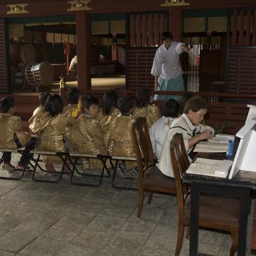
[[[128,115],[118,115],[109,129],[108,150],[113,156],[135,157],[132,141],[132,123],[134,118]],[[127,169],[136,166],[136,162],[127,162]]]

